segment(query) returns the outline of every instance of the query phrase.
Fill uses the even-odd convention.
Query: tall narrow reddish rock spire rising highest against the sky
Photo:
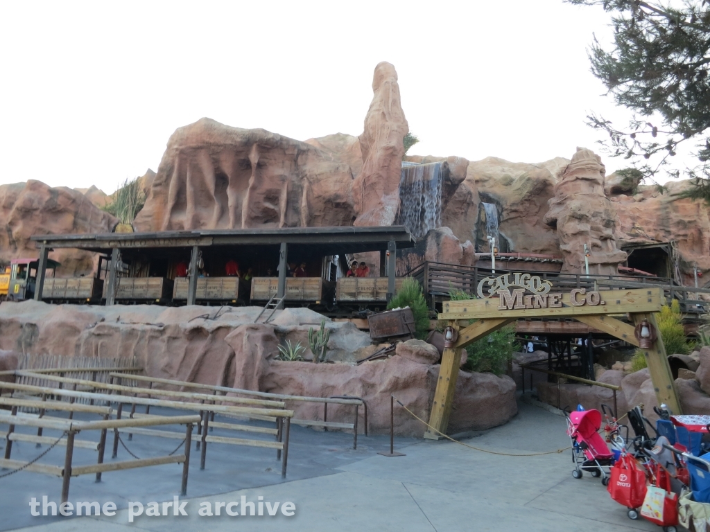
[[[409,133],[395,67],[381,62],[372,82],[374,96],[360,135],[363,167],[353,182],[356,226],[391,226],[399,209],[399,184]]]

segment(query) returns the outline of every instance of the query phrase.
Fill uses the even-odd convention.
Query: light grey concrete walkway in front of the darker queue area
[[[466,443],[503,453],[530,453],[555,450],[569,445],[565,423],[561,416],[537,406],[520,404],[520,414],[505,426],[469,438]],[[314,434],[317,438],[342,438],[339,445],[347,445],[349,436],[332,433]],[[369,445],[368,445],[369,443]],[[599,479],[586,474],[581,480],[572,478],[570,451],[564,454],[540,455],[528,458],[481,453],[452,442],[403,440],[400,451],[406,456],[386,458],[375,455],[386,438],[363,438],[368,447],[365,458],[351,455],[337,467],[316,467],[319,460],[339,452],[326,446],[311,448],[307,460],[314,465],[314,475],[300,480],[273,483],[265,479],[261,487],[226,492],[224,482],[211,495],[188,500],[188,516],[138,516],[129,523],[128,511],[119,510],[116,516],[80,518],[32,518],[29,507],[16,507],[11,513],[27,516],[26,523],[43,522],[38,526],[21,528],[33,532],[95,531],[121,532],[129,527],[149,531],[659,531],[648,521],[631,521],[626,509],[613,502]],[[334,443],[330,443],[334,445]],[[292,452],[289,468],[299,468],[307,448]],[[320,457],[320,458],[319,458]],[[214,465],[214,462],[212,462]],[[165,467],[165,466],[159,466]],[[204,472],[203,472],[204,473]],[[31,475],[31,474],[26,474]],[[107,480],[109,480],[107,474]],[[136,487],[151,482],[157,468],[133,471]],[[190,483],[200,471],[190,471]],[[303,476],[303,475],[301,475]],[[8,477],[11,478],[11,477]],[[37,492],[46,478],[31,475]],[[80,477],[81,478],[81,477]],[[280,480],[280,479],[279,479]],[[163,484],[160,484],[163,487]],[[6,499],[10,483],[0,480],[0,497]],[[88,487],[72,484],[70,501],[92,500]],[[54,491],[54,489],[53,489]],[[151,494],[141,492],[135,500],[169,500],[172,492]],[[217,495],[214,493],[221,492]],[[194,491],[191,491],[194,494]],[[293,501],[294,516],[198,516],[200,503],[215,501],[264,501],[281,503]],[[126,497],[116,497],[124,500]],[[56,500],[56,498],[55,498]],[[130,497],[129,497],[129,500]],[[26,504],[26,503],[25,503]],[[212,506],[214,507],[214,506]],[[273,506],[272,506],[273,507]],[[237,506],[240,511],[241,506]],[[6,509],[7,510],[7,509]],[[240,511],[241,513],[241,511]],[[3,519],[9,514],[4,512]],[[266,514],[266,511],[264,511]],[[1,528],[1,527],[0,527]],[[7,529],[7,528],[6,528]]]

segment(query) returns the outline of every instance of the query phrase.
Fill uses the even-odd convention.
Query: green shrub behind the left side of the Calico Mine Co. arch
[[[449,290],[449,299],[461,301],[475,298],[461,289],[452,288]],[[469,323],[474,323],[474,320]],[[493,331],[466,346],[467,356],[463,369],[479,373],[491,372],[500,376],[506,372],[508,362],[513,359],[516,349],[518,343],[515,342],[515,327],[509,326]]]

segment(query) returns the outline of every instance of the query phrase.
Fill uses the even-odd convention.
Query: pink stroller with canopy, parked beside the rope
[[[567,436],[572,440],[572,477],[581,478],[582,471],[592,477],[601,477],[601,483],[609,482],[609,471],[614,455],[599,434],[601,414],[599,410],[575,411],[567,417]]]

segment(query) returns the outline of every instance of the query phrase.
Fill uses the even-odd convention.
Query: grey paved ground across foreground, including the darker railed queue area
[[[149,455],[160,449],[141,447],[138,437],[126,442]],[[173,445],[172,440],[166,448]],[[264,450],[212,445],[207,469],[190,468],[191,499],[187,517],[138,516],[129,523],[128,501],[165,501],[177,493],[177,465],[109,472],[104,482],[72,480],[70,501],[113,500],[123,507],[116,516],[31,517],[28,500],[47,494],[57,500],[59,480],[21,472],[0,479],[0,529],[32,532],[129,531],[659,531],[646,521],[630,521],[626,510],[611,501],[598,479],[574,480],[569,451],[529,458],[481,453],[451,442],[398,440],[406,453],[399,458],[376,455],[387,438],[352,438],[342,433],[314,433],[296,428],[289,475],[281,482],[278,462]],[[520,404],[520,414],[505,426],[486,431],[466,443],[503,453],[542,452],[569,444],[564,419]],[[33,445],[13,458],[31,458]],[[227,447],[226,450],[224,448]],[[214,453],[213,453],[214,451]],[[253,452],[252,452],[253,451]],[[266,451],[271,453],[271,451]],[[54,451],[53,451],[54,453]],[[239,453],[238,455],[229,453]],[[63,453],[58,453],[60,457]],[[274,453],[275,454],[275,453]],[[87,455],[90,456],[90,455]],[[195,455],[193,455],[195,456]],[[212,457],[212,460],[210,459]],[[119,458],[126,458],[125,453]],[[271,462],[269,462],[271,460]],[[271,463],[273,471],[264,471]],[[0,472],[1,473],[1,472]],[[239,491],[229,491],[241,487]],[[200,504],[216,501],[293,501],[295,515],[198,516]],[[214,506],[212,506],[214,508]],[[272,506],[273,508],[273,506]],[[236,506],[239,511],[240,506]],[[264,511],[267,514],[267,511]],[[246,523],[245,523],[246,521]],[[241,524],[241,526],[239,526]]]

